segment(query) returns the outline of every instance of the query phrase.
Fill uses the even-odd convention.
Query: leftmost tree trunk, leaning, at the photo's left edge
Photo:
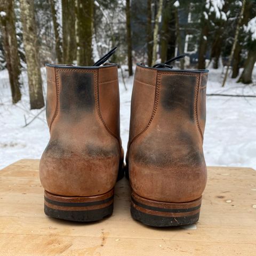
[[[12,92],[12,103],[21,99],[20,92],[20,58],[18,54],[18,43],[15,31],[15,15],[13,0],[0,0],[0,28],[3,38],[4,57],[9,73]]]

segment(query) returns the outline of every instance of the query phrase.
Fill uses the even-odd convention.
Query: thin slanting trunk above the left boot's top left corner
[[[61,38],[59,33],[60,25],[57,21],[57,12],[55,9],[56,1],[50,0],[51,3],[51,10],[52,10],[52,21],[53,21],[53,29],[54,29],[54,36],[55,36],[55,52],[56,57],[59,63],[62,63],[62,49],[61,49]]]

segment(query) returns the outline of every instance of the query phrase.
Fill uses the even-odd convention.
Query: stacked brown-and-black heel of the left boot
[[[58,196],[44,191],[46,215],[71,221],[97,221],[113,212],[114,188],[98,196]]]

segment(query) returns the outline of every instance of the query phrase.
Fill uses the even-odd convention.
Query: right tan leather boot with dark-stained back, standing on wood
[[[195,223],[206,185],[208,70],[166,66],[137,65],[126,155],[132,217],[158,227]]]

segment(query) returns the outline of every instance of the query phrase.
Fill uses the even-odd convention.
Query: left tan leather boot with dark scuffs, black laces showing
[[[100,220],[113,212],[118,170],[122,177],[117,66],[46,65],[46,71],[50,141],[39,166],[45,213]]]

